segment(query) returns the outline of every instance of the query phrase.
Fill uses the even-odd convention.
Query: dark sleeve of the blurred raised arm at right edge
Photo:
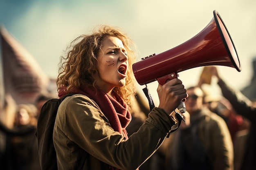
[[[234,91],[220,79],[218,85],[221,88],[223,96],[229,100],[236,113],[245,116],[247,119],[255,119],[256,108],[252,106],[252,102],[245,97],[240,91]]]

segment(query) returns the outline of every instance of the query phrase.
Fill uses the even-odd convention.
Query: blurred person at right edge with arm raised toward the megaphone
[[[208,67],[213,76],[218,79],[218,86],[222,91],[222,95],[229,100],[236,113],[242,115],[246,120],[250,121],[249,133],[244,144],[244,155],[238,160],[241,162],[235,165],[236,170],[256,170],[256,107],[253,101],[245,97],[240,91],[229,87],[226,82],[218,74],[216,66]],[[235,162],[236,163],[236,162]]]

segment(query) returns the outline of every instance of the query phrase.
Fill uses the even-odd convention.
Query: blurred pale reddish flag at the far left
[[[34,57],[6,29],[0,28],[4,92],[17,104],[34,103],[47,91],[49,77]]]

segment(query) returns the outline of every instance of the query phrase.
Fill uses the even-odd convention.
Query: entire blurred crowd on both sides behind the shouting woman
[[[196,86],[186,87],[186,113],[177,131],[140,170],[255,170],[256,102],[230,88],[215,66],[210,75],[200,77]],[[222,94],[205,90],[209,78],[216,77]],[[208,79],[208,80],[207,80]],[[5,96],[0,109],[0,169],[40,170],[36,125],[40,109],[53,95],[40,95],[35,104],[16,104]],[[144,97],[137,94],[132,105],[128,135],[135,133],[150,112]]]

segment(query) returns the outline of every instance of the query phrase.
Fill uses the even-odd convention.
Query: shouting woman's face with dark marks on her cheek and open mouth
[[[99,74],[96,84],[104,92],[110,93],[114,87],[124,86],[128,69],[126,49],[120,39],[107,36],[102,41],[102,51],[98,55]]]

